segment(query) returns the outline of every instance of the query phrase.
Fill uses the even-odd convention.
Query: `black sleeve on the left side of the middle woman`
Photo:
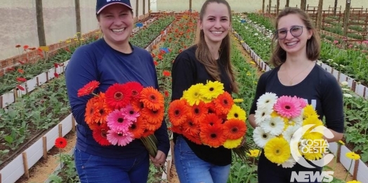
[[[188,90],[195,82],[195,66],[192,64],[188,53],[180,53],[173,62],[171,69],[171,101],[183,96],[183,91]]]

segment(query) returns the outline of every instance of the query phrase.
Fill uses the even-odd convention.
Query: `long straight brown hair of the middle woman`
[[[225,4],[225,6],[228,7],[229,11],[229,19],[231,22],[231,8],[228,4],[228,1],[225,0],[206,0],[201,8],[201,11],[199,12],[199,19],[203,21],[204,14],[206,13],[206,8],[211,3],[217,3],[217,4]],[[231,51],[231,44],[230,44],[230,32],[228,35],[225,36],[223,41],[221,41],[220,46],[220,57],[219,59],[224,63],[225,65],[225,71],[226,74],[228,74],[230,79],[230,85],[232,92],[237,93],[239,88],[237,86],[237,82],[235,81],[235,72],[232,68],[231,60],[230,60],[230,51]],[[201,62],[204,67],[206,68],[206,71],[209,73],[209,75],[216,79],[217,81],[221,81],[220,78],[220,70],[218,69],[218,64],[216,60],[213,60],[213,57],[211,56],[211,53],[209,52],[209,47],[206,44],[206,41],[204,40],[204,32],[201,29],[199,32],[199,41],[197,43],[197,50],[195,52],[195,57],[199,62]]]

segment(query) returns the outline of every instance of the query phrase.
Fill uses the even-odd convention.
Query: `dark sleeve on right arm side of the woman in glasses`
[[[326,74],[327,80],[322,82],[324,92],[322,93],[322,110],[325,116],[327,128],[338,133],[343,133],[343,92],[334,76]]]

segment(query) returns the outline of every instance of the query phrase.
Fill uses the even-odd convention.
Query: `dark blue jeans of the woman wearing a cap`
[[[81,183],[146,183],[148,154],[136,158],[105,158],[74,149],[74,161]]]

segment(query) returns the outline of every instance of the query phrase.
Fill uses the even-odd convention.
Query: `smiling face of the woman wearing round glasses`
[[[297,55],[306,54],[306,44],[313,32],[305,27],[303,20],[298,15],[289,14],[280,18],[277,24],[277,34],[279,37],[286,34],[284,39],[278,40],[281,48],[289,55]]]

